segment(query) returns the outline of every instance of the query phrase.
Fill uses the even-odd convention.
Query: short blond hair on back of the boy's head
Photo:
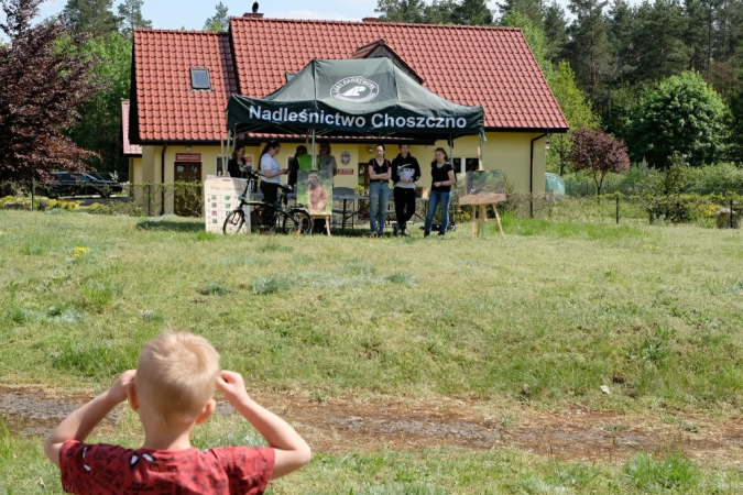
[[[164,332],[136,362],[136,396],[164,420],[194,420],[214,397],[219,354],[203,337]]]

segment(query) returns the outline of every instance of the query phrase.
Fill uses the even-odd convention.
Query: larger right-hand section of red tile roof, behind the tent
[[[566,130],[567,121],[521,30],[386,22],[232,18],[240,92],[266,96],[313,58],[351,58],[385,44],[435,94],[481,105],[491,130]]]

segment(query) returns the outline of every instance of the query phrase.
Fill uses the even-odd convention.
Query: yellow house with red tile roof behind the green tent
[[[129,136],[142,146],[142,162],[132,177],[142,183],[204,180],[217,173],[227,141],[225,109],[231,95],[262,98],[314,58],[386,56],[433,92],[460,105],[482,106],[487,142],[477,136],[455,141],[458,170],[503,170],[515,190],[544,193],[547,133],[566,132],[567,121],[529,50],[513,28],[396,24],[266,19],[248,13],[230,20],[227,33],[135,30]],[[271,136],[241,135],[248,157],[256,163]],[[303,136],[275,136],[284,164]],[[334,139],[339,165],[336,186],[365,180],[364,164],[373,145],[393,140]],[[390,143],[392,143],[390,145]],[[411,153],[427,163],[445,141],[422,135]],[[371,150],[371,151],[370,151]],[[139,169],[141,167],[141,169]],[[161,211],[177,212],[177,200],[163,197]]]

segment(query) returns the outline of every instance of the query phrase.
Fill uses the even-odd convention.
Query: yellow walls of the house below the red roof
[[[507,183],[516,191],[528,193],[529,188],[529,156],[532,140],[540,136],[540,133],[488,133],[488,141],[483,143],[483,168],[487,170],[500,169],[503,172]],[[254,167],[259,166],[260,152],[263,150],[262,143],[260,146],[245,146],[245,154],[252,155]],[[288,158],[294,156],[296,146],[306,144],[305,141],[282,141],[281,152],[276,155],[276,161],[282,168],[288,165]],[[359,184],[358,169],[359,164],[368,163],[374,157],[375,143],[331,143],[332,155],[336,157],[338,168],[352,169],[351,175],[337,175],[334,180],[336,187],[356,187]],[[480,147],[480,139],[478,136],[466,136],[455,140],[454,155],[456,157],[477,157],[478,148]],[[308,148],[310,145],[307,146]],[[449,145],[446,141],[438,141],[434,145],[412,145],[411,154],[418,160],[420,164],[422,177],[418,182],[419,186],[430,187],[430,162],[434,160],[434,152],[436,147],[442,147],[447,154],[450,154]],[[368,150],[372,148],[370,153]],[[385,144],[385,157],[393,160],[398,153],[396,144]],[[153,183],[153,184],[173,184],[175,176],[175,154],[176,153],[199,153],[201,155],[201,180],[206,180],[208,175],[217,173],[217,156],[220,156],[221,150],[219,146],[190,146],[187,151],[185,145],[171,145],[165,150],[165,177],[161,177],[161,156],[163,146],[142,146],[141,166],[134,166],[132,183]],[[312,150],[310,150],[312,152]],[[350,161],[348,165],[341,163],[341,154],[348,152]],[[456,168],[459,164],[455,164]],[[140,172],[138,172],[138,168]],[[457,168],[458,169],[458,168]],[[534,194],[544,194],[545,187],[545,139],[538,139],[534,142]],[[282,182],[286,182],[286,177],[282,177]],[[160,195],[154,195],[160,196]],[[149,207],[151,215],[159,215],[160,198],[150,198]],[[147,198],[140,198],[140,204],[143,207],[146,205]],[[165,213],[173,213],[173,196],[166,195],[165,198]]]

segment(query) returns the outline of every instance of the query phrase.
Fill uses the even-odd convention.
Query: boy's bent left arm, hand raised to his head
[[[136,370],[125,371],[108,391],[67,416],[44,442],[44,453],[57,468],[62,444],[69,439],[85,441],[92,429],[103,420],[119,403],[127,400],[127,387],[134,381]]]

